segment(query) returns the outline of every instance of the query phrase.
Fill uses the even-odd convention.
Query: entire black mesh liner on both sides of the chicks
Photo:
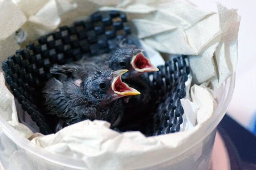
[[[47,135],[54,129],[49,123],[49,118],[45,118],[47,115],[43,114],[40,104],[41,89],[45,82],[53,77],[50,68],[54,64],[66,64],[79,60],[85,55],[93,56],[109,52],[116,48],[118,39],[127,38],[127,43],[138,46],[138,40],[130,36],[131,29],[126,22],[126,15],[123,13],[117,11],[97,12],[86,20],[75,22],[72,26],[60,27],[58,31],[38,38],[34,43],[27,45],[25,49],[17,50],[15,55],[8,57],[2,63],[6,81],[11,87],[14,97],[37,124],[41,133]],[[169,105],[173,106],[172,112],[176,112],[173,102],[176,98],[173,98],[172,94],[179,93],[180,90],[184,92],[184,89],[176,87],[187,80],[189,67],[185,58],[186,56],[181,56],[170,60],[165,65],[158,67],[158,72],[148,74],[149,77],[152,77],[149,78],[152,91],[158,97],[155,102],[155,107],[158,109],[148,115],[150,118],[147,118],[151,119],[149,122],[150,135],[174,132],[173,130],[162,131],[165,129],[166,118],[161,115],[166,112],[166,109],[163,108],[168,109],[166,106]],[[169,99],[171,96],[172,98]],[[183,96],[184,93],[178,95],[178,98]],[[175,95],[175,97],[177,96]],[[169,104],[168,100],[172,103]],[[180,107],[182,106],[179,105]],[[179,116],[176,114],[177,117]],[[152,122],[154,123],[152,124]],[[177,121],[175,124],[176,131],[179,130],[177,126],[180,126],[181,123],[181,121]]]

